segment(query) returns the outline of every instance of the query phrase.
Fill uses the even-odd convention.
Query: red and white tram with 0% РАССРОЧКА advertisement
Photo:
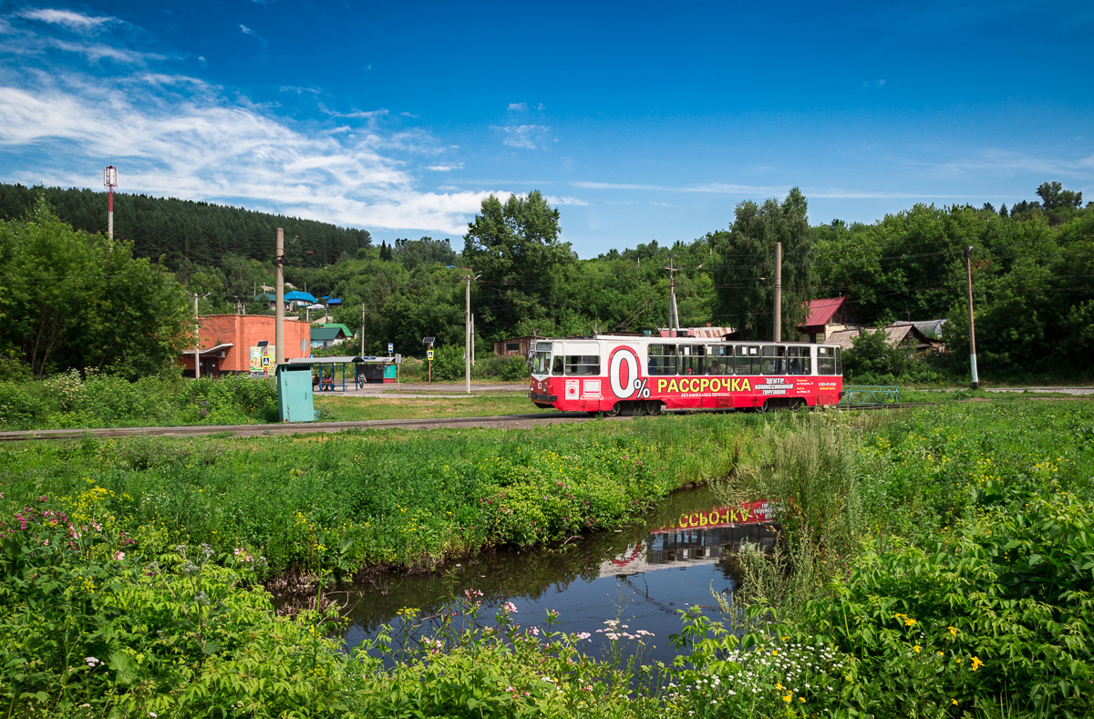
[[[839,402],[840,347],[598,334],[539,340],[528,392],[563,412],[798,410]]]

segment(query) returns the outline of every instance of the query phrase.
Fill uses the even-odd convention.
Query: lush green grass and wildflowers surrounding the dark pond
[[[0,465],[11,716],[1094,711],[1089,402],[89,439],[5,448]],[[639,627],[606,625],[615,659],[593,661],[550,617],[473,593],[428,640],[397,625],[344,657],[316,614],[276,618],[252,589],[613,527],[703,478],[779,502],[785,541],[743,555],[735,609],[685,613],[676,667],[635,659]]]

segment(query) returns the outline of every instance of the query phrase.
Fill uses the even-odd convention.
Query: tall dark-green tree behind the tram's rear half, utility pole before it
[[[782,339],[796,339],[814,281],[813,243],[805,196],[796,187],[781,203],[736,207],[729,232],[708,236],[718,306],[715,318],[749,339],[770,340],[775,329],[775,244],[782,243]]]

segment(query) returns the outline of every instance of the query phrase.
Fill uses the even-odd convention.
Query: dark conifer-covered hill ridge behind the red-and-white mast
[[[0,220],[25,216],[38,196],[74,229],[106,234],[106,192],[88,189],[0,184]],[[185,264],[216,267],[225,254],[268,262],[277,227],[284,228],[287,256],[295,266],[330,264],[372,243],[366,229],[208,202],[114,193],[114,236],[131,240],[135,256],[163,256],[175,270]],[[291,243],[293,237],[300,240]]]

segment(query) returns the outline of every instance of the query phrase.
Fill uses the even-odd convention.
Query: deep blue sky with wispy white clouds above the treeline
[[[581,257],[793,186],[813,223],[1094,200],[1091,37],[1089,1],[0,0],[0,181],[457,249],[538,189]]]

